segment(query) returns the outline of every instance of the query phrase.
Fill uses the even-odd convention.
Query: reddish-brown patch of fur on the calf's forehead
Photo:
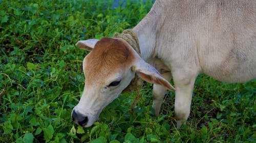
[[[85,59],[84,73],[87,82],[104,80],[120,68],[126,69],[130,66],[134,55],[128,46],[127,43],[113,38],[98,41]]]

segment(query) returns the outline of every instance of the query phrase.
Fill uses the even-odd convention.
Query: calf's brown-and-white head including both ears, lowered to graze
[[[135,74],[145,81],[175,90],[123,39],[90,39],[78,41],[76,45],[91,51],[83,59],[86,84],[79,103],[72,111],[73,121],[80,126],[91,126],[98,119],[102,109],[118,97]]]

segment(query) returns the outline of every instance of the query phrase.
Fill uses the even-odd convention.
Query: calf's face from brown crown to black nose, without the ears
[[[73,109],[73,121],[89,127],[101,110],[111,103],[134,78],[131,49],[117,39],[103,38],[83,60],[86,84]]]

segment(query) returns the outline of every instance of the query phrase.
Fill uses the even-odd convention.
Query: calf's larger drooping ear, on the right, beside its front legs
[[[153,66],[147,64],[143,60],[137,62],[132,69],[137,73],[140,78],[147,82],[163,85],[170,91],[176,90],[173,85],[165,80]]]

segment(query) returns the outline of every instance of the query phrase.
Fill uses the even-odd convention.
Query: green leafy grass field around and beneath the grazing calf
[[[72,123],[87,54],[74,44],[132,28],[152,5],[0,0],[0,142],[256,142],[255,79],[228,84],[199,75],[188,122],[179,130],[174,93],[166,94],[156,118],[150,83],[134,114],[135,94],[129,93],[108,105],[92,127]]]

